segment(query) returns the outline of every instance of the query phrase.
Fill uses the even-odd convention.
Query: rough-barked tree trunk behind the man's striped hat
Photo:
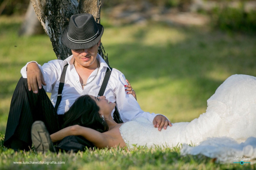
[[[69,24],[73,14],[90,13],[100,22],[101,0],[30,0],[37,18],[50,37],[53,50],[58,59],[66,59],[71,50],[60,41],[62,30]],[[103,49],[104,51],[104,49]],[[102,50],[101,50],[102,52]],[[104,57],[104,54],[101,54]],[[107,58],[105,59],[107,60]]]

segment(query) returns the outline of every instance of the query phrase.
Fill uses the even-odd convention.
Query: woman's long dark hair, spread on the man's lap
[[[89,96],[83,95],[64,114],[63,128],[80,125],[99,132],[108,131],[109,127],[99,114],[99,106]]]

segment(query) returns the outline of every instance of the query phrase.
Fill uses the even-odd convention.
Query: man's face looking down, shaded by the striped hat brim
[[[100,41],[90,48],[71,50],[74,58],[76,59],[76,67],[92,66],[92,64],[96,60],[99,45],[100,45]]]

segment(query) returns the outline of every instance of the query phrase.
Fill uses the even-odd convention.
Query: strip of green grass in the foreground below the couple
[[[255,166],[247,164],[219,164],[213,159],[199,156],[181,156],[179,148],[158,147],[149,149],[146,147],[111,148],[86,150],[78,153],[35,153],[14,152],[2,149],[0,156],[1,169],[255,169]],[[22,162],[17,164],[14,162]],[[32,162],[41,162],[33,164]],[[30,163],[30,164],[29,164]]]

